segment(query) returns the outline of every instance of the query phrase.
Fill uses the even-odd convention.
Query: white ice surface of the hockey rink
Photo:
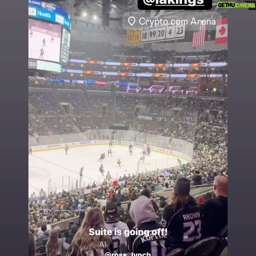
[[[128,146],[113,145],[112,156],[107,156],[108,145],[90,145],[70,148],[68,155],[64,149],[46,150],[34,152],[28,157],[28,194],[29,196],[43,188],[48,191],[49,179],[50,188],[57,188],[57,192],[75,187],[75,181],[79,180],[79,170],[84,166],[81,187],[88,183],[100,183],[110,172],[112,178],[119,178],[126,174],[136,174],[137,171],[146,172],[156,169],[164,169],[167,166],[177,166],[177,156],[167,155],[151,151],[150,156],[145,156],[144,163],[138,160],[142,156],[142,148],[133,148],[133,155],[129,155]],[[105,153],[105,158],[99,162],[100,154]],[[117,159],[121,158],[121,167],[117,164]],[[182,163],[187,161],[180,159]],[[99,171],[103,164],[104,176]],[[126,171],[127,170],[127,171]],[[63,177],[64,176],[64,177]],[[63,179],[63,182],[62,182]]]

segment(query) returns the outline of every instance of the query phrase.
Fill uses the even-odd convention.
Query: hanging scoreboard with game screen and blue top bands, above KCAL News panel
[[[54,4],[28,0],[28,58],[68,63],[71,22]]]

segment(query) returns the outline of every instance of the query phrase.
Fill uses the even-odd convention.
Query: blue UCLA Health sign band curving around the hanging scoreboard
[[[68,28],[68,30],[71,30],[70,20],[62,15],[56,14],[55,12],[47,11],[42,8],[28,7],[28,16],[59,23]]]

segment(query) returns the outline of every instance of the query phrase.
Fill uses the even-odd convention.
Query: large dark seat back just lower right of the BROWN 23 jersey
[[[216,256],[216,252],[221,246],[221,240],[217,237],[211,236],[204,238],[185,251],[185,256]]]

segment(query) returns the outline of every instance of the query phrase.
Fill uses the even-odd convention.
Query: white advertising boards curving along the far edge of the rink
[[[53,149],[64,149],[66,146],[69,148],[75,148],[79,146],[89,146],[89,145],[108,145],[110,140],[87,140],[87,141],[80,141],[80,142],[67,142],[67,143],[59,143],[59,144],[50,144],[50,145],[40,145],[40,146],[32,146],[33,151],[44,151],[44,150],[53,150]],[[137,142],[129,142],[129,141],[122,141],[121,143],[118,143],[117,140],[113,140],[114,145],[129,145],[132,144],[135,147],[142,148],[144,145],[143,143],[137,143]],[[192,161],[191,156],[184,154],[179,151],[174,151],[170,149],[165,148],[159,148],[157,146],[151,146],[151,151],[156,151],[159,153],[164,153],[168,155],[178,156],[183,159],[186,159],[187,161]]]

